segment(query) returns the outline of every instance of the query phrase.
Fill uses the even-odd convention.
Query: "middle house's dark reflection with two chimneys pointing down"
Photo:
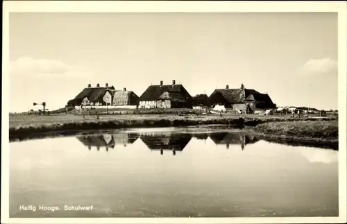
[[[174,134],[174,133],[144,133],[139,137],[147,147],[151,150],[173,150],[175,155],[176,151],[182,151],[185,146],[192,139],[190,134]]]

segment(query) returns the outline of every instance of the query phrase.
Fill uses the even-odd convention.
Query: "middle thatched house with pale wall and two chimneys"
[[[139,107],[192,108],[192,96],[175,80],[172,85],[163,85],[160,81],[160,85],[150,85],[139,97]]]

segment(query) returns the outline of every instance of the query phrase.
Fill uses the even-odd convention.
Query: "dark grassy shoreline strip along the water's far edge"
[[[336,123],[336,124],[335,124]],[[283,118],[283,117],[117,117],[111,119],[87,119],[80,121],[61,121],[53,123],[30,123],[14,126],[10,123],[9,137],[12,141],[40,139],[45,137],[64,137],[92,130],[120,130],[124,128],[166,128],[204,125],[227,125],[245,128],[260,139],[271,142],[302,142],[338,148],[337,119],[330,117]],[[289,126],[287,128],[286,126]],[[301,127],[302,126],[302,127]],[[316,130],[314,126],[326,126]],[[316,128],[314,133],[312,130]],[[286,128],[288,130],[286,130]],[[296,130],[290,130],[296,128]],[[328,130],[328,131],[327,131]],[[282,133],[281,133],[282,132]],[[294,143],[293,143],[294,142]]]

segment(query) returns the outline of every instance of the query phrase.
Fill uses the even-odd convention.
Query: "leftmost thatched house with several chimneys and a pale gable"
[[[105,105],[105,101],[103,96],[107,90],[114,90],[115,87],[108,86],[108,83],[105,84],[105,87],[100,87],[99,84],[96,87],[92,87],[92,85],[88,84],[88,87],[83,89],[74,99],[71,99],[67,102],[69,107],[74,107],[76,105],[94,105],[95,103],[99,103],[100,105]]]

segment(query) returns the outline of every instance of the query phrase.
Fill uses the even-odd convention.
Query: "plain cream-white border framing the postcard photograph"
[[[346,5],[346,1],[3,1],[1,223],[346,223]],[[9,12],[338,12],[339,217],[9,218]]]

